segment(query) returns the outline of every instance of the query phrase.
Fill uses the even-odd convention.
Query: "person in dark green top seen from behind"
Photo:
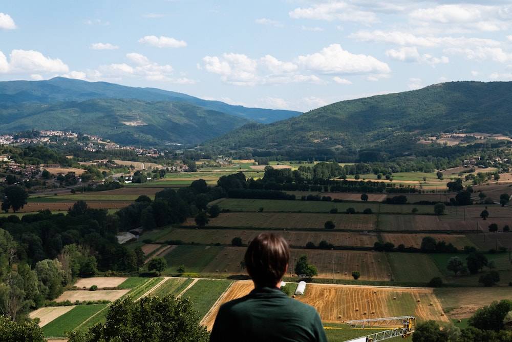
[[[316,310],[280,289],[290,259],[286,240],[262,233],[249,244],[244,259],[254,289],[220,307],[210,342],[327,342]]]

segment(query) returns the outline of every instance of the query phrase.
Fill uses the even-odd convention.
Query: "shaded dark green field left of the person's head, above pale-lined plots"
[[[199,273],[221,250],[217,246],[178,246],[164,256],[168,266],[164,273],[174,274],[180,265],[185,266],[186,272]]]

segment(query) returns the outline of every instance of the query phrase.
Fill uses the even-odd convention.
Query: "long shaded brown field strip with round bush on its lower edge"
[[[376,215],[340,215],[322,213],[222,213],[211,218],[211,227],[247,227],[247,228],[301,228],[324,229],[324,223],[332,220],[336,229],[373,230]],[[189,220],[189,225],[195,225]]]

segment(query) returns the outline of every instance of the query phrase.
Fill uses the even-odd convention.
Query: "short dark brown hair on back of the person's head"
[[[286,240],[273,233],[255,237],[245,252],[245,266],[257,287],[274,287],[283,278],[290,260]]]

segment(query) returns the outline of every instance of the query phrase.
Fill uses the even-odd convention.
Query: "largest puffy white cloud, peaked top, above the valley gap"
[[[331,44],[320,52],[298,56],[298,64],[308,70],[324,74],[387,74],[391,69],[377,58],[364,54],[353,54],[339,44]]]

